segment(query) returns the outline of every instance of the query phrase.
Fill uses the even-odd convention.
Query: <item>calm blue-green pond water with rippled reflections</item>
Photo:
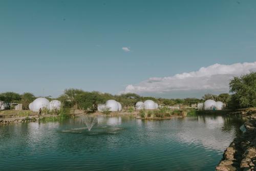
[[[239,117],[98,117],[0,126],[0,170],[214,170]]]

